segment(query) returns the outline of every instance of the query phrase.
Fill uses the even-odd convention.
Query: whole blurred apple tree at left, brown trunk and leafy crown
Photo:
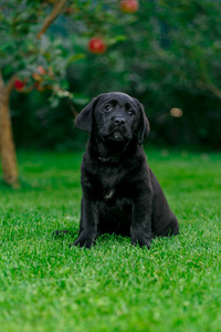
[[[108,40],[109,25],[116,22],[112,6],[113,1],[73,1],[67,0],[11,0],[0,3],[0,154],[3,179],[12,186],[18,185],[18,166],[15,148],[10,121],[9,101],[13,87],[20,93],[29,93],[32,89],[39,92],[50,90],[50,101],[56,106],[59,98],[73,94],[67,91],[65,71],[70,63],[85,56],[74,50],[72,34],[49,33],[46,30],[62,14],[72,17],[69,22],[73,28],[74,21],[81,21],[78,32],[88,37],[102,33],[106,40],[115,43],[120,38]],[[95,19],[96,18],[96,19]],[[61,25],[60,25],[61,27]],[[76,30],[75,30],[76,37]],[[82,39],[84,42],[84,39]],[[93,46],[94,48],[94,46]],[[99,45],[101,48],[101,45]],[[91,51],[93,49],[91,48]],[[103,50],[95,53],[104,53]],[[78,96],[81,102],[81,96]]]

